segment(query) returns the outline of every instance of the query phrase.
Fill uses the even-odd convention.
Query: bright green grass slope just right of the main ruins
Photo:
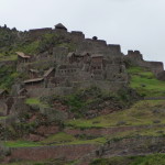
[[[154,74],[141,67],[128,69],[131,75],[130,87],[144,97],[165,97],[165,81],[155,78]]]

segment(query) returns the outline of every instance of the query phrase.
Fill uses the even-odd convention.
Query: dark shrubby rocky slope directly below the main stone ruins
[[[43,97],[42,100],[51,105],[52,108],[61,110],[56,107],[56,102],[66,108],[68,113],[74,114],[74,118],[95,118],[103,113],[119,111],[132,105],[138,100],[138,95],[130,88],[119,90],[118,94],[102,91],[94,86],[87,89],[80,89],[69,96]],[[106,113],[106,112],[105,112]]]

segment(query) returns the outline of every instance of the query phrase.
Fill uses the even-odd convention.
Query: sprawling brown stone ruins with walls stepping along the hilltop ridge
[[[36,38],[47,33],[63,36],[65,46],[56,45],[34,59],[24,53],[16,53],[20,58],[18,70],[28,73],[30,77],[22,84],[31,97],[66,95],[94,85],[107,91],[119,90],[129,82],[124,63],[128,59],[150,68],[155,75],[164,70],[163,63],[145,62],[139,51],[129,51],[128,55],[123,55],[120,45],[107,44],[97,36],[86,38],[82,32],[68,32],[62,23],[55,29],[29,31],[29,35]],[[72,51],[70,44],[74,45]],[[47,68],[42,68],[45,65]]]

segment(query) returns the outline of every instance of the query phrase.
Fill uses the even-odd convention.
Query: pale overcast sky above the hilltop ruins
[[[24,31],[59,22],[165,64],[165,0],[0,0],[1,25]]]

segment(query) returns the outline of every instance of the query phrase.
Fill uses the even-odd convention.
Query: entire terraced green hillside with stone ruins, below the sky
[[[163,63],[63,24],[0,36],[0,164],[164,164]]]

